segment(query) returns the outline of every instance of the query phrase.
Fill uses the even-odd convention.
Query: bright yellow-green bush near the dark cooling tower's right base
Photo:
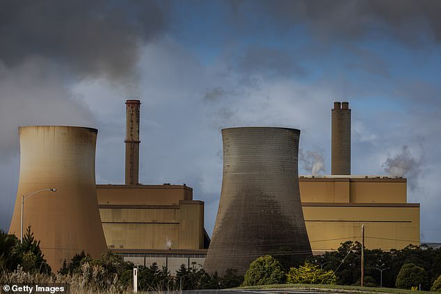
[[[293,284],[337,284],[337,276],[333,270],[321,270],[319,266],[305,262],[299,268],[290,268],[287,281]]]

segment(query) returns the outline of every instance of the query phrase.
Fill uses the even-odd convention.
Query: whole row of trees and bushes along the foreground
[[[361,244],[348,241],[332,252],[309,256],[303,263],[286,265],[286,256],[262,256],[251,263],[245,277],[233,269],[225,275],[209,275],[193,263],[182,265],[177,272],[159,268],[157,263],[138,266],[138,288],[143,291],[161,289],[218,289],[256,284],[340,284],[360,285]],[[134,263],[110,251],[99,259],[79,252],[56,273],[44,259],[40,242],[33,238],[31,227],[23,243],[14,236],[0,232],[0,270],[3,279],[17,269],[23,272],[50,276],[69,281],[79,279],[88,287],[126,289],[133,286]],[[381,277],[381,272],[383,277]],[[422,290],[441,291],[441,248],[409,245],[402,250],[364,249],[364,285],[389,288],[412,288],[421,284]],[[62,278],[63,277],[63,278]],[[67,277],[67,278],[66,278]]]

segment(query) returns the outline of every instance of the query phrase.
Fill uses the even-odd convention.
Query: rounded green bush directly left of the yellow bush
[[[252,261],[246,271],[243,286],[281,284],[284,282],[282,265],[273,256],[262,256]]]

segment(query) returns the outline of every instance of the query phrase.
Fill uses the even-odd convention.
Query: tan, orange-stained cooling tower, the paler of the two
[[[84,250],[98,257],[106,251],[95,186],[97,129],[76,126],[19,128],[20,176],[10,233],[20,236],[22,195],[38,193],[24,202],[23,227],[31,224],[52,270]]]

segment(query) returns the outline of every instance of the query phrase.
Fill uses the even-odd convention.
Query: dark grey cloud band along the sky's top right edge
[[[230,1],[232,15],[257,14],[262,22],[289,31],[305,24],[319,40],[394,36],[418,46],[424,37],[441,42],[438,0],[275,0]],[[247,22],[250,17],[232,17]],[[423,30],[429,32],[423,35]]]

